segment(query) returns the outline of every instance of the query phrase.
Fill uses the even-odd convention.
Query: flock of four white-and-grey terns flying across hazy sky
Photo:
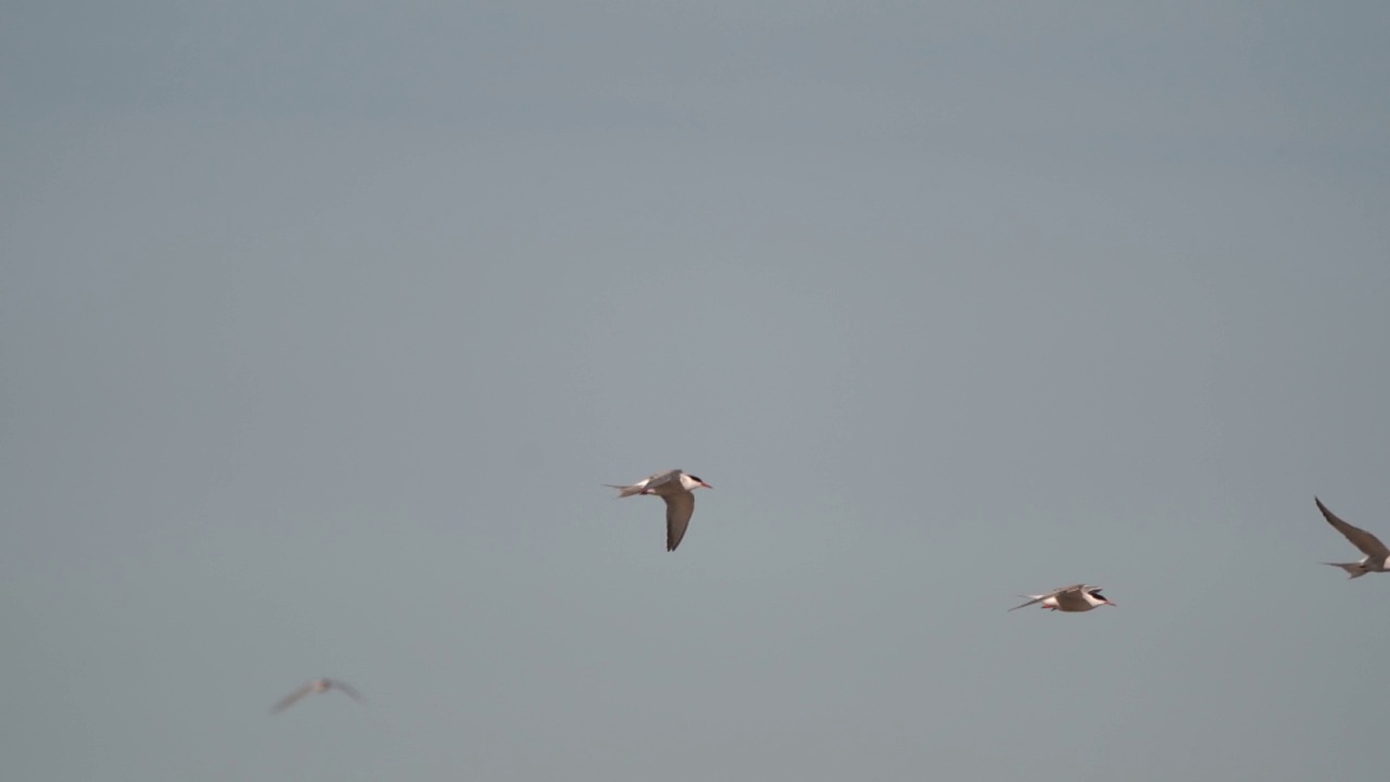
[[[695,490],[713,488],[710,484],[687,473],[685,470],[663,470],[627,486],[617,486],[612,483],[605,486],[619,490],[619,498],[651,494],[666,501],[667,551],[676,551],[676,547],[681,544],[681,538],[685,537],[685,530],[689,527],[691,516],[695,515]],[[1322,516],[1327,519],[1327,523],[1351,541],[1352,545],[1359,548],[1362,554],[1365,554],[1365,557],[1362,557],[1358,562],[1323,562],[1325,565],[1341,568],[1351,579],[1358,579],[1366,573],[1390,572],[1390,548],[1387,548],[1384,543],[1380,543],[1379,537],[1341,520],[1340,516],[1329,511],[1327,506],[1322,504],[1322,500],[1314,497],[1312,501],[1318,505]],[[1109,601],[1109,598],[1101,594],[1101,587],[1090,584],[1070,584],[1042,594],[1024,594],[1020,597],[1027,597],[1029,601],[1015,605],[1013,608],[1009,608],[1009,611],[1017,611],[1019,608],[1041,604],[1047,611],[1081,614],[1091,611],[1093,608],[1099,608],[1101,605],[1115,605]],[[306,696],[327,693],[328,690],[339,690],[353,700],[361,700],[357,690],[352,689],[352,686],[345,682],[336,679],[313,679],[285,696],[275,704],[271,714],[285,711],[303,700]]]

